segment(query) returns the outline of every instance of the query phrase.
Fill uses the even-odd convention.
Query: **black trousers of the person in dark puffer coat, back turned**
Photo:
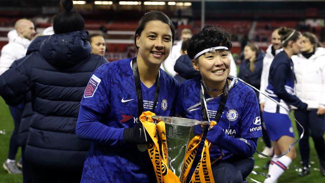
[[[79,183],[81,180],[82,169],[40,167],[32,163],[29,167],[32,183]]]

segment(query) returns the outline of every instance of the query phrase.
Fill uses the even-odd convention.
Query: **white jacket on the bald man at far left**
[[[25,56],[30,40],[20,36],[5,44],[1,49],[0,56],[0,75],[9,69],[14,60]]]

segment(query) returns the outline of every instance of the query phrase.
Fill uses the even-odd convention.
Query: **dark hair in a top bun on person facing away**
[[[84,29],[82,16],[73,10],[72,0],[61,0],[63,11],[56,14],[53,19],[54,33],[67,33]]]

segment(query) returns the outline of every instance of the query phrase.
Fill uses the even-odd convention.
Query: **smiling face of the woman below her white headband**
[[[212,50],[192,60],[193,68],[201,73],[204,83],[214,88],[223,82],[230,71],[229,52],[227,50]]]

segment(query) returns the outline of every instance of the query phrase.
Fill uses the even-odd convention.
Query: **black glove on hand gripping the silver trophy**
[[[124,128],[123,140],[125,143],[146,144],[152,142],[148,132],[139,121],[134,127]]]

